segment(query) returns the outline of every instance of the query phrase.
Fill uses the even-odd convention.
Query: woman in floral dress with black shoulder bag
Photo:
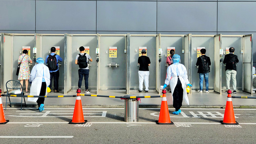
[[[23,80],[25,80],[26,92],[29,92],[28,91],[28,80],[30,76],[30,70],[28,66],[29,62],[32,63],[32,60],[28,56],[28,51],[25,49],[23,50],[23,54],[20,55],[18,59],[18,63],[21,63],[19,68],[18,80],[20,80],[20,83],[22,84],[22,86],[23,86]]]

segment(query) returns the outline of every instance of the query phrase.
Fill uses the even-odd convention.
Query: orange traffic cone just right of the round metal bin
[[[170,119],[170,114],[169,114],[168,105],[167,105],[167,99],[166,99],[166,95],[165,95],[166,89],[163,89],[162,93],[163,93],[163,97],[162,97],[159,120],[156,120],[156,123],[158,125],[173,125],[173,123]]]

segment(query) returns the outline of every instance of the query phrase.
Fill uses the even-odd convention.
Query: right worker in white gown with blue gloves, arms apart
[[[187,70],[181,63],[181,57],[177,54],[172,56],[171,62],[173,63],[167,68],[167,77],[163,88],[166,88],[170,84],[172,91],[173,107],[175,112],[172,114],[179,115],[181,113],[182,100],[189,104],[186,85],[192,87],[187,79]],[[172,77],[172,78],[171,78]],[[171,79],[171,80],[170,80]]]

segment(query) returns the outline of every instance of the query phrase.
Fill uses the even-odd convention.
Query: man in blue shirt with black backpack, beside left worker
[[[52,81],[54,78],[54,92],[59,92],[59,67],[58,61],[62,61],[62,58],[55,54],[56,48],[51,48],[51,54],[46,56],[45,63],[50,71],[50,85],[49,88],[52,91]]]

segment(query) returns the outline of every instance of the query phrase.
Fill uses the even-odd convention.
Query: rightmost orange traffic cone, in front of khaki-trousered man
[[[223,120],[220,121],[223,125],[238,125],[237,121],[234,118],[234,110],[233,110],[231,93],[232,92],[229,89],[224,118]]]

